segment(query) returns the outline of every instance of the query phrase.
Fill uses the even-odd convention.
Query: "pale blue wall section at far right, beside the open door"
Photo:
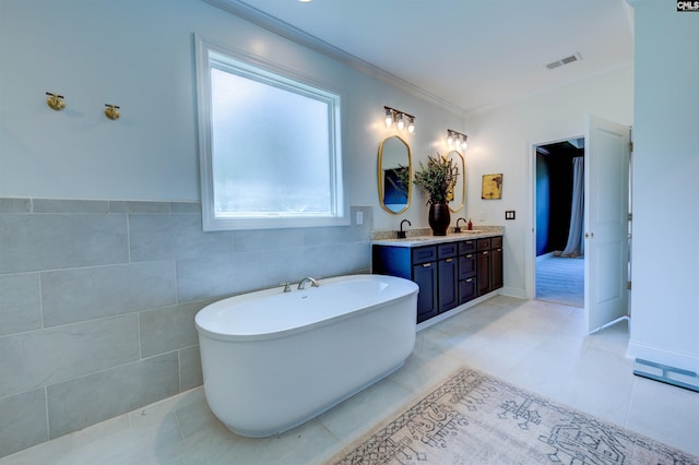
[[[635,1],[629,354],[699,372],[699,13]],[[667,225],[659,231],[659,225]]]

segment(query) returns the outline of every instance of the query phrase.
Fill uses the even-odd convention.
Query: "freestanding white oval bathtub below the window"
[[[351,275],[230,297],[197,313],[204,393],[234,432],[300,425],[400,368],[415,345],[418,287]]]

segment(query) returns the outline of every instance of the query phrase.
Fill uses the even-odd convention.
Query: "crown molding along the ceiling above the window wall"
[[[430,102],[457,115],[463,116],[465,114],[465,110],[463,108],[452,104],[451,102],[448,102],[379,67],[376,67],[367,61],[364,61],[360,58],[357,58],[354,55],[342,50],[341,48],[337,48],[331,44],[328,44],[327,41],[321,40],[320,38],[311,34],[308,34],[305,31],[301,31],[296,26],[293,26],[286,23],[285,21],[282,21],[268,13],[264,13],[258,10],[257,8],[250,7],[249,4],[240,0],[203,0],[203,1],[214,7],[217,7],[228,13],[232,13],[238,17],[241,17],[252,24],[256,24],[268,31],[271,31],[272,33],[279,36],[282,36],[288,40],[295,41],[296,44],[299,44],[306,48],[309,48],[313,51],[317,51],[336,61],[340,61],[341,63],[344,63],[364,74],[370,75],[390,85],[393,85],[394,87],[398,87],[411,95],[414,95],[424,100]]]

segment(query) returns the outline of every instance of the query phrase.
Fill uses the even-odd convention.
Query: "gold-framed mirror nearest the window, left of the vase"
[[[378,186],[381,207],[398,215],[411,206],[413,166],[411,147],[398,135],[379,145]]]

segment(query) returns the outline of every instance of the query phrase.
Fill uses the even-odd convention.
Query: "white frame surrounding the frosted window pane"
[[[341,96],[329,86],[316,83],[310,76],[294,70],[282,68],[261,57],[239,50],[234,50],[221,44],[215,44],[200,36],[196,40],[197,67],[197,97],[199,111],[199,159],[201,174],[202,226],[204,230],[236,230],[236,229],[271,229],[297,228],[319,226],[346,226],[350,224],[350,208],[343,183],[343,160],[341,143]],[[246,78],[250,74],[260,76],[256,81],[266,84],[279,83],[285,90],[291,90],[301,96],[322,95],[323,102],[329,104],[329,166],[331,199],[330,212],[327,214],[217,214],[214,202],[213,176],[213,126],[212,126],[212,67],[226,71],[244,70]],[[238,74],[244,75],[244,74]],[[270,84],[270,85],[272,85]],[[309,97],[313,98],[313,97]],[[270,128],[270,135],[274,135]]]

